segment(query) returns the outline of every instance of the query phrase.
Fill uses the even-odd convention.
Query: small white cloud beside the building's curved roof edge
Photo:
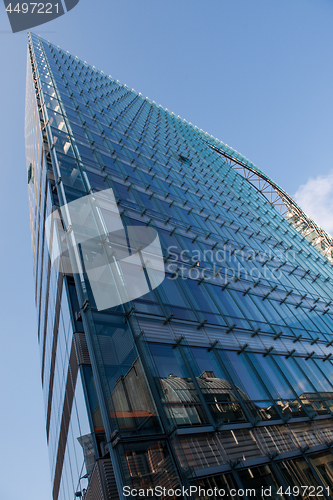
[[[319,226],[333,234],[333,171],[302,184],[294,200]]]

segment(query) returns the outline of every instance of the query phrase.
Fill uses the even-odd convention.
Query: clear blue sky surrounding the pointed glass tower
[[[249,158],[333,231],[331,0],[80,0],[35,28]],[[24,152],[26,33],[0,5],[0,478],[51,500]]]

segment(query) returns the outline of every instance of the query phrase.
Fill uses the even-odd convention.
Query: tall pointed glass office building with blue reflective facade
[[[239,153],[33,34],[25,133],[53,499],[329,497],[330,237]],[[64,207],[106,190],[165,277],[99,307],[89,265],[129,244],[50,255]]]

